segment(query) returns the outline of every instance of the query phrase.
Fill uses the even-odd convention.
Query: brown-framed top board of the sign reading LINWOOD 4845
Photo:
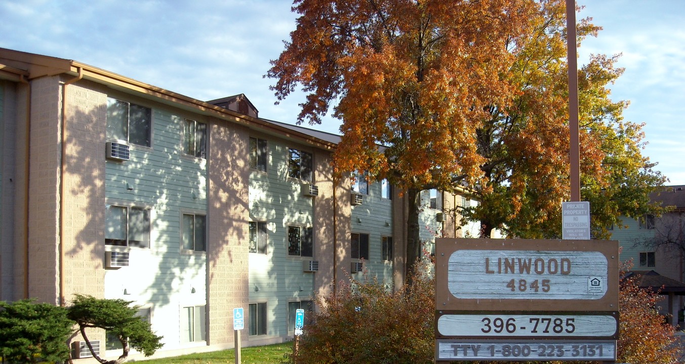
[[[436,239],[436,309],[617,311],[619,244]]]

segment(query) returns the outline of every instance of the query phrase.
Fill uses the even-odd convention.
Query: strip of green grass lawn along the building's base
[[[277,343],[267,346],[251,346],[240,350],[240,363],[242,364],[279,364],[283,363],[284,354],[292,352],[292,341]],[[236,356],[233,350],[219,352],[201,352],[182,356],[172,356],[162,359],[150,359],[140,361],[141,364],[218,364],[235,363]]]

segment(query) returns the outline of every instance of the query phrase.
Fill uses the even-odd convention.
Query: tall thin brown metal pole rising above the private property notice
[[[575,0],[566,0],[566,58],[569,64],[569,159],[571,202],[580,201],[580,137],[578,133],[578,60],[575,36]]]

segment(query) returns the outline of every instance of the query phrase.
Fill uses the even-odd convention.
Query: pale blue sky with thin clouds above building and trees
[[[449,0],[446,0],[449,1]],[[603,27],[578,49],[622,53],[612,100],[645,123],[643,155],[685,185],[685,0],[577,0]],[[0,47],[75,60],[208,101],[245,94],[260,117],[294,124],[303,94],[275,105],[263,76],[297,14],[287,0],[2,0]],[[313,128],[338,133],[325,118]]]

